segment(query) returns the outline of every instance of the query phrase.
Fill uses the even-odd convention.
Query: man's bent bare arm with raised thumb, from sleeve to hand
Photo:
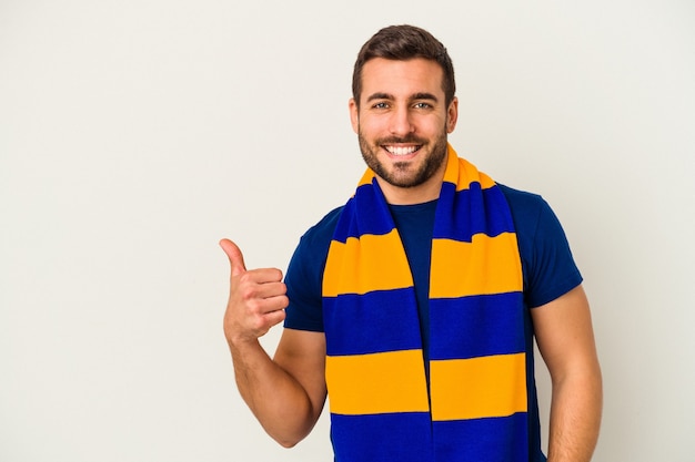
[[[231,265],[224,333],[236,386],[265,431],[283,446],[292,446],[309,434],[325,402],[325,337],[285,329],[271,359],[259,338],[284,319],[282,273],[246,270],[236,245],[228,239],[220,245]]]

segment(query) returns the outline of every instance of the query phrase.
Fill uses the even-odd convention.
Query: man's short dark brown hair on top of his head
[[[453,101],[456,92],[454,65],[446,48],[430,32],[415,25],[390,25],[376,32],[362,45],[352,73],[352,96],[360,105],[362,94],[362,68],[374,58],[406,61],[415,58],[435,61],[444,71],[442,90],[446,105]]]

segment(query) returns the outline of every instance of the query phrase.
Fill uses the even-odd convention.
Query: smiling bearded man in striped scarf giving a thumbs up
[[[543,199],[449,145],[454,92],[435,38],[382,29],[353,74],[369,166],[355,194],[302,237],[284,283],[221,242],[236,383],[284,446],[328,394],[336,461],[543,461],[535,336],[553,384],[547,460],[592,456],[602,386],[582,277]],[[271,359],[258,339],[283,320]]]

